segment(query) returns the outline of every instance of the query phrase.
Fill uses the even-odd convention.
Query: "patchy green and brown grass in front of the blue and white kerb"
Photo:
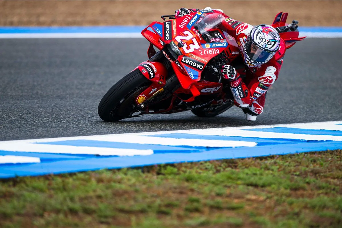
[[[342,151],[0,180],[0,227],[342,227]]]

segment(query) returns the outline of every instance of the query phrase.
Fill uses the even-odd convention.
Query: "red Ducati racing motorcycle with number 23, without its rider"
[[[199,117],[213,117],[234,105],[228,83],[219,69],[228,63],[243,77],[245,66],[235,39],[218,26],[221,14],[207,17],[199,11],[169,21],[152,22],[142,31],[150,42],[149,59],[119,80],[103,96],[98,115],[104,121],[118,121],[143,114],[192,111]],[[285,24],[280,12],[272,26],[290,48],[298,38],[298,22]],[[159,49],[155,51],[154,46]]]

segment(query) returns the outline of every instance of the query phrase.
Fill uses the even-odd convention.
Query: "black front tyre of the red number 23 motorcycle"
[[[97,112],[106,122],[115,122],[127,118],[135,112],[135,98],[145,90],[151,82],[135,69],[120,79],[103,96],[98,104]]]

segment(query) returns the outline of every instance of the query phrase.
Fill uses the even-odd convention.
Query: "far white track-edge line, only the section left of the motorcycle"
[[[140,32],[74,32],[74,33],[0,33],[0,39],[20,38],[144,38]]]

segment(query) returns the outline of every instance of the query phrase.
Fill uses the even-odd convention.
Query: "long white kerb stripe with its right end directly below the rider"
[[[148,136],[93,136],[91,140],[121,143],[139,143],[165,146],[203,146],[203,147],[253,147],[255,142],[229,141],[229,140],[210,140],[210,139],[185,139],[185,138],[161,138]],[[1,148],[1,147],[0,147]]]

